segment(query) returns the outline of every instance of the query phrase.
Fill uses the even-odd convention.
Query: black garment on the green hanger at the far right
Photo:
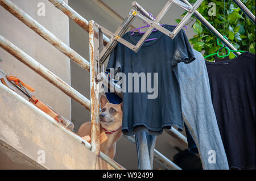
[[[206,62],[230,169],[255,169],[255,54]]]

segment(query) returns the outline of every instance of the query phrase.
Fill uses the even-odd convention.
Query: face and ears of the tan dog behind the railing
[[[123,117],[123,103],[109,103],[105,95],[101,94],[100,124],[103,128],[115,130],[121,127]]]

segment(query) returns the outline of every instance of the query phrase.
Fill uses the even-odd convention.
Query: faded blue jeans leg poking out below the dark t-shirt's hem
[[[155,140],[155,135],[146,132],[135,134],[139,170],[152,170]]]

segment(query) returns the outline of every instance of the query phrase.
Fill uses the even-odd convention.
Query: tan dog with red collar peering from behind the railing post
[[[122,136],[122,117],[123,117],[123,103],[111,104],[105,95],[101,94],[100,98],[100,125],[101,132],[105,131],[108,140],[101,144],[102,153],[108,155],[110,158],[114,158],[116,142]],[[91,124],[90,121],[81,125],[77,134],[81,137],[91,136]]]

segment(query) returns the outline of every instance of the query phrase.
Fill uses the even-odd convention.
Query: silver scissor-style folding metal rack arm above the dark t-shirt
[[[165,35],[169,36],[171,39],[174,39],[177,33],[181,30],[181,28],[188,21],[188,19],[191,18],[193,13],[201,5],[202,2],[203,0],[198,0],[195,2],[193,6],[191,6],[179,0],[169,0],[166,3],[166,5],[163,7],[163,9],[160,11],[159,15],[156,16],[155,19],[146,10],[144,10],[143,7],[140,6],[137,2],[133,2],[132,6],[134,6],[136,10],[130,11],[129,15],[123,20],[122,24],[118,27],[117,31],[115,31],[114,33],[107,30],[104,27],[101,27],[97,23],[94,23],[94,28],[96,28],[96,31],[98,31],[98,35],[99,35],[98,37],[99,43],[98,43],[98,48],[96,53],[96,57],[98,57],[96,60],[98,63],[98,66],[101,67],[104,64],[104,61],[106,60],[106,58],[108,58],[109,54],[112,52],[112,50],[115,48],[118,42],[130,48],[134,52],[138,52],[138,50],[141,48],[142,44],[148,38],[148,36],[150,36],[154,28],[164,33]],[[175,4],[188,12],[184,16],[184,18],[180,21],[180,23],[175,27],[174,31],[171,32],[166,28],[160,26],[159,22],[163,18],[163,16],[166,14],[166,12],[170,9],[172,4]],[[130,27],[131,23],[133,22],[136,16],[139,19],[141,19],[143,22],[146,22],[147,24],[149,24],[150,27],[144,33],[144,35],[141,37],[138,43],[136,45],[133,45],[128,41],[126,41],[125,39],[122,39],[122,36],[128,30],[128,28]],[[102,40],[103,33],[111,37],[110,43],[108,43],[105,48]],[[98,67],[98,70],[99,70],[99,67]],[[102,76],[98,77],[98,81],[100,81],[101,79],[102,79]]]

